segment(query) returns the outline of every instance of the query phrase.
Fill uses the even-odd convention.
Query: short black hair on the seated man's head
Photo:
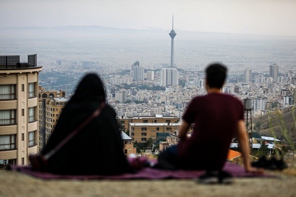
[[[222,88],[227,68],[220,63],[210,64],[206,68],[207,82],[210,88]]]

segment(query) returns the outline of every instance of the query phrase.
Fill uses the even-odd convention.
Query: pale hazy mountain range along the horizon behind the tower
[[[170,30],[137,30],[119,29],[103,26],[59,26],[59,27],[9,27],[0,28],[0,35],[11,38],[115,38],[115,39],[136,39],[154,38],[168,39]],[[289,37],[239,34],[239,33],[210,33],[210,32],[188,32],[175,30],[176,39],[180,40],[240,40],[240,39],[288,39]],[[295,38],[295,37],[294,37]]]

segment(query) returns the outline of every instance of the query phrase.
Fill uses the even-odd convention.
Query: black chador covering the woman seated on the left
[[[102,106],[102,102],[105,102],[105,91],[101,79],[96,74],[87,74],[63,109],[42,155],[79,127]],[[99,116],[48,159],[48,170],[58,174],[112,175],[130,172],[115,116],[111,106],[105,104]]]

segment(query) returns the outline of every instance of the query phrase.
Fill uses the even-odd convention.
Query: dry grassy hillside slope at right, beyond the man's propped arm
[[[294,114],[294,117],[293,117]],[[270,112],[253,120],[253,131],[280,140],[296,141],[296,108]]]

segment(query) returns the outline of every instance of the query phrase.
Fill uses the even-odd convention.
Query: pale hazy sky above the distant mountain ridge
[[[1,27],[126,29],[296,36],[296,0],[0,0]]]

